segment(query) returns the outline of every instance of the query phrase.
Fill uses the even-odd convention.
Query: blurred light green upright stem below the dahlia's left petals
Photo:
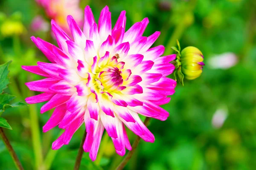
[[[30,91],[30,96],[35,94]],[[35,167],[36,169],[44,170],[43,166],[43,152],[41,147],[41,137],[38,125],[38,111],[36,105],[29,105],[29,114],[30,114],[30,124],[31,124],[31,133],[32,133],[32,144],[35,155]]]

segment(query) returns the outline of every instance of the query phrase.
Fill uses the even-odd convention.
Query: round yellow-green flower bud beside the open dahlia
[[[204,65],[204,56],[202,52],[195,47],[184,48],[180,53],[181,72],[186,79],[192,80],[202,74]]]

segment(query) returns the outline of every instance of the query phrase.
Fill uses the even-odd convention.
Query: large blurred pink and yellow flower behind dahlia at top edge
[[[67,16],[72,15],[81,28],[83,24],[83,11],[79,8],[80,0],[36,0],[42,6],[47,16],[70,34]]]

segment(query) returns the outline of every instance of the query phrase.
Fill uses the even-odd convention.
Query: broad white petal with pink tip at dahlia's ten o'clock
[[[84,59],[84,51],[80,48],[75,42],[67,40],[67,48],[68,53],[75,59],[76,61],[79,59],[81,61],[85,61]]]

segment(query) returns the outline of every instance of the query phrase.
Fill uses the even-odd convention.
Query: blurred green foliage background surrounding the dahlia
[[[256,167],[256,1],[255,0],[81,0],[90,5],[97,20],[101,9],[108,5],[112,24],[126,10],[127,28],[148,17],[144,33],[161,35],[154,45],[166,46],[166,54],[179,39],[181,48],[195,46],[204,54],[203,74],[196,80],[178,84],[169,104],[169,118],[161,122],[151,119],[149,130],[154,143],[140,141],[136,153],[125,170],[250,170]],[[53,44],[50,31],[32,31],[35,16],[45,16],[44,9],[34,0],[0,1],[0,64],[12,60],[9,67],[11,84],[6,92],[24,101],[34,92],[24,82],[41,79],[21,70],[21,65],[46,62],[46,57],[30,40],[32,35]],[[15,21],[6,27],[7,21]],[[215,68],[222,64],[213,58],[227,52],[236,56],[231,68]],[[219,62],[219,63],[218,63]],[[225,62],[229,62],[225,60]],[[43,104],[13,108],[3,113],[13,130],[5,130],[26,170],[73,169],[84,126],[69,145],[58,151],[51,143],[60,129],[42,133],[52,111],[40,114]],[[39,122],[39,124],[38,124]],[[223,123],[223,125],[222,125]],[[39,136],[38,135],[39,132]],[[130,142],[136,136],[128,132]],[[37,137],[40,137],[37,138]],[[111,140],[99,164],[84,153],[81,169],[112,170],[122,157],[114,151]],[[0,170],[15,170],[0,140]]]

